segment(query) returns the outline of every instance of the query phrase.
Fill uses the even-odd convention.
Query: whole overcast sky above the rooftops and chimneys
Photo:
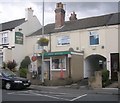
[[[65,21],[71,13],[77,19],[118,12],[118,0],[44,0],[44,25],[55,22],[56,3],[62,2],[66,11]],[[0,0],[0,23],[25,18],[25,9],[32,7],[34,15],[43,24],[43,0]]]

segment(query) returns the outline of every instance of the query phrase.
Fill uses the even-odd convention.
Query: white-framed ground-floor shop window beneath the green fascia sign
[[[52,59],[52,70],[65,70],[66,59],[65,58],[53,58]]]

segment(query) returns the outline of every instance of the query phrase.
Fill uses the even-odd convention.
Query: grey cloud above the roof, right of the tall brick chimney
[[[77,18],[98,16],[118,12],[118,2],[73,2],[66,3],[67,15],[75,11]]]

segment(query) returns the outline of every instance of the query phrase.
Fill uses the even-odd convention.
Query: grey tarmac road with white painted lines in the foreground
[[[2,90],[2,101],[97,101],[118,103],[117,89],[72,89],[40,87],[40,89]]]

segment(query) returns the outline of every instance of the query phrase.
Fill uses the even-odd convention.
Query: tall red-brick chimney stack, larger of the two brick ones
[[[55,9],[55,28],[60,28],[64,25],[65,21],[65,10],[61,2],[56,4]]]

